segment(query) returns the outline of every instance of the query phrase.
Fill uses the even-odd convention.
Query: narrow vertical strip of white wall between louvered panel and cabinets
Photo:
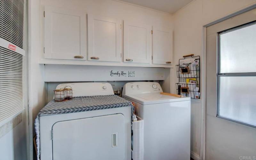
[[[40,56],[39,0],[28,0],[28,97],[29,97],[29,158],[33,159],[34,121],[46,104],[44,65],[38,64]]]

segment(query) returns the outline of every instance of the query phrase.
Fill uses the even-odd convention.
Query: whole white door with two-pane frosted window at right
[[[207,27],[206,160],[256,159],[255,11]]]

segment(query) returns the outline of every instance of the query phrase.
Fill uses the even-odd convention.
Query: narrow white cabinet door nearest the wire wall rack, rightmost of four
[[[171,64],[172,30],[153,26],[153,63]]]

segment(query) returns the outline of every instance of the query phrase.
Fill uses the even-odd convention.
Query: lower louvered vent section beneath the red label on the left
[[[0,46],[0,122],[25,106],[25,56]]]

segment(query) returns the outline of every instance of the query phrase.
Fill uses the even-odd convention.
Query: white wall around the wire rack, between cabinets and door
[[[174,64],[186,54],[203,55],[203,26],[225,17],[233,12],[255,4],[256,0],[195,0],[173,14],[174,19]],[[201,63],[201,71],[202,71]],[[202,76],[202,72],[201,72]],[[175,70],[171,71],[172,92],[177,82]],[[201,78],[201,82],[202,82]],[[201,83],[202,84],[202,83]],[[203,88],[201,88],[202,97]],[[191,151],[195,158],[200,156],[200,130],[203,115],[201,100],[192,100],[191,104]]]

